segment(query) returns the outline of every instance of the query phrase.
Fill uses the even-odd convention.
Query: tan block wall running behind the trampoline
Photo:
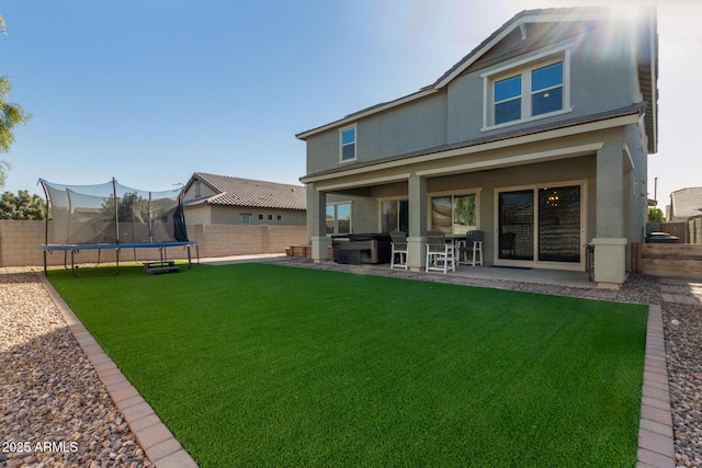
[[[49,229],[52,224],[49,222]],[[233,226],[233,225],[189,225],[190,240],[197,242],[201,259],[213,256],[246,255],[256,253],[285,253],[285,248],[308,243],[305,226]],[[0,267],[43,266],[44,253],[39,246],[46,240],[45,221],[0,220]],[[173,247],[166,250],[171,260],[186,259],[185,248]],[[193,260],[195,250],[192,251]],[[124,249],[120,261],[159,260],[158,249]],[[49,266],[64,264],[64,252],[55,251],[46,255]],[[70,263],[70,253],[67,258]],[[77,263],[114,262],[114,250],[84,250],[76,254]]]

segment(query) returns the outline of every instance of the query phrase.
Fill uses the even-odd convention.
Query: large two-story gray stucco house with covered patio
[[[428,230],[478,229],[503,266],[585,271],[592,241],[595,279],[619,287],[645,232],[657,84],[655,9],[517,14],[432,84],[297,135],[313,259],[328,233],[399,228],[419,270]]]

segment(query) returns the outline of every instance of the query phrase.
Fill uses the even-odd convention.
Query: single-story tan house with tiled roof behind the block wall
[[[195,172],[183,189],[188,224],[305,226],[304,186]]]

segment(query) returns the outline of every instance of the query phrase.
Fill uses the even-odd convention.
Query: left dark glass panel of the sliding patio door
[[[534,191],[499,194],[498,258],[534,260]]]

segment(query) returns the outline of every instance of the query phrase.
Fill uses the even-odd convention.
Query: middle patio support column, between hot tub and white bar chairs
[[[407,265],[411,271],[424,269],[427,241],[427,178],[412,173],[407,184],[409,198],[409,233]]]

